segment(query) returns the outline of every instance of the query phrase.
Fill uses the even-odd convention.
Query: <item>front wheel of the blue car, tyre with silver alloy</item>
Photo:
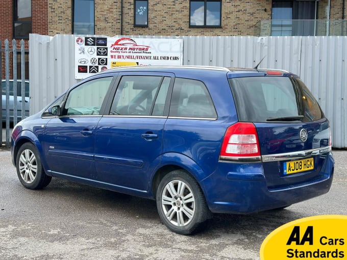
[[[28,189],[42,189],[51,182],[52,176],[44,172],[39,152],[31,143],[25,143],[19,148],[16,168],[20,183]]]

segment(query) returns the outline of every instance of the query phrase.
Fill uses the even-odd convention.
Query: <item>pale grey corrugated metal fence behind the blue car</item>
[[[346,36],[127,37],[182,38],[184,65],[250,68],[265,57],[259,68],[285,69],[301,77],[331,121],[333,146],[347,147]],[[75,35],[30,35],[31,114],[78,82],[74,44]]]

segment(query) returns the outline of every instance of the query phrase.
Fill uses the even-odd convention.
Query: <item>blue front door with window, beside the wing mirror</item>
[[[95,178],[95,130],[112,79],[112,76],[93,79],[70,90],[63,101],[62,116],[46,124],[44,150],[53,176]]]

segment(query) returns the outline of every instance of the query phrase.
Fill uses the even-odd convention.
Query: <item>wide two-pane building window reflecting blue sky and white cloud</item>
[[[221,27],[221,0],[190,0],[190,27]]]

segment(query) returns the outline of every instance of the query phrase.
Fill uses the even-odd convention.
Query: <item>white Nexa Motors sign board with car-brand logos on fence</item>
[[[122,66],[183,65],[182,39],[75,37],[75,79]]]

